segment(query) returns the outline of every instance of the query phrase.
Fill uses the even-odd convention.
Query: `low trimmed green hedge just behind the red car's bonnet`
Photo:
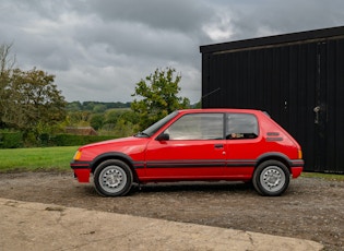
[[[57,134],[49,139],[49,145],[54,145],[54,146],[85,145],[85,144],[90,144],[94,142],[112,140],[112,139],[114,136]]]

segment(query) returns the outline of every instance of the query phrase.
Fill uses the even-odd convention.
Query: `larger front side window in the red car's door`
[[[166,131],[169,140],[223,140],[223,113],[185,115]]]

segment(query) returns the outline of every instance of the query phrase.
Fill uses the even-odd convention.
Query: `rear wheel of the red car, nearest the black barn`
[[[284,193],[290,181],[288,168],[281,162],[268,160],[260,164],[253,174],[252,183],[262,195],[278,196]]]

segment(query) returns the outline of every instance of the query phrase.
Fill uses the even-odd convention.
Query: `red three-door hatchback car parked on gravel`
[[[252,182],[262,195],[280,195],[304,167],[299,144],[265,112],[248,109],[175,111],[124,139],[78,150],[71,168],[106,196],[132,183],[163,181]]]

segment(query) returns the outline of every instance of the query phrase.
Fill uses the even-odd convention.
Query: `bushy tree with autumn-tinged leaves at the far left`
[[[5,85],[7,96],[2,121],[36,138],[66,118],[64,97],[54,84],[54,75],[33,69],[11,71]]]

